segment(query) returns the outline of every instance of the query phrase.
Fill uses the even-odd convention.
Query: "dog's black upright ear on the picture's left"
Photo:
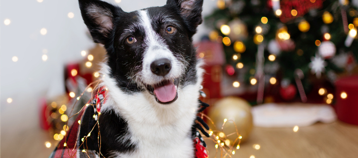
[[[101,0],[79,0],[82,18],[96,43],[106,44],[113,31],[113,19],[121,8]]]

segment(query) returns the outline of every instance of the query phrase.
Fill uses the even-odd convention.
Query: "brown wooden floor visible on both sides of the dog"
[[[292,129],[254,127],[232,158],[358,158],[358,126],[335,122],[300,127],[297,132]],[[52,146],[46,148],[45,141]],[[215,158],[215,144],[207,143],[209,158]],[[48,158],[56,144],[36,126],[21,133],[2,132],[1,158]],[[260,149],[254,149],[254,144]]]

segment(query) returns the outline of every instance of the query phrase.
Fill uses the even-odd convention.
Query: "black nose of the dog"
[[[172,69],[172,64],[166,58],[158,59],[150,64],[152,72],[158,76],[165,76]]]

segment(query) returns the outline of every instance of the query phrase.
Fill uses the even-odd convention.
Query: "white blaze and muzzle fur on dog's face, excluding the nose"
[[[183,63],[180,63],[178,59],[175,58],[173,52],[169,50],[168,45],[165,43],[164,39],[160,36],[160,34],[154,31],[148,12],[146,10],[139,10],[138,15],[140,18],[141,26],[143,27],[143,31],[145,32],[143,42],[146,47],[143,53],[143,69],[140,73],[142,82],[145,84],[153,85],[163,81],[164,79],[178,78],[184,71]],[[172,64],[172,69],[165,76],[165,78],[163,76],[155,75],[150,69],[151,63],[162,58],[170,60]]]

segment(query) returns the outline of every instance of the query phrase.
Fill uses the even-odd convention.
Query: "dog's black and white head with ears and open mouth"
[[[100,0],[79,2],[94,42],[107,50],[110,77],[122,91],[148,91],[168,104],[178,98],[179,87],[196,82],[192,36],[202,22],[203,0],[168,0],[162,7],[129,13]]]

